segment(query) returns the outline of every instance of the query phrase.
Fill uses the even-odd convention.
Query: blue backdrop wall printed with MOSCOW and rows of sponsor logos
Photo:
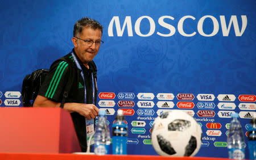
[[[256,108],[255,7],[254,0],[1,1],[0,106],[21,106],[16,91],[21,91],[24,76],[49,68],[54,60],[70,52],[73,25],[82,16],[89,16],[104,26],[104,45],[94,58],[98,90],[115,94],[114,99],[99,97],[98,102],[113,104],[109,100],[114,100],[111,108],[116,112],[121,108],[119,93],[134,96],[125,99],[135,104],[134,115],[126,116],[132,139],[129,154],[156,154],[147,141],[154,120],[150,117],[157,117],[156,112],[162,109],[156,104],[165,100],[174,103],[170,108],[177,109],[177,103],[184,102],[177,95],[185,93],[195,96],[185,102],[193,102],[193,116],[203,129],[203,146],[196,156],[228,157],[225,125],[230,122],[230,112],[240,113],[246,133],[249,115]],[[138,99],[139,93],[154,94],[149,102],[154,103],[154,115],[137,113],[142,107],[137,103],[147,100]],[[173,94],[174,99],[159,99],[159,93]],[[200,94],[214,95],[214,99],[200,99]],[[240,99],[240,95],[251,95],[253,100]],[[215,107],[207,109],[202,104],[201,109],[199,102]],[[197,114],[200,110],[214,111],[215,115],[207,121]],[[108,120],[111,125],[114,115]],[[146,125],[134,127],[132,121],[144,121]],[[207,123],[211,121],[222,125],[221,136],[208,136]],[[134,133],[132,128],[144,128],[146,132]]]

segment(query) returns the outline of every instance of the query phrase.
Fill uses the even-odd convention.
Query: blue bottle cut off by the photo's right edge
[[[250,120],[248,147],[250,159],[256,159],[256,113],[254,113],[253,118]]]

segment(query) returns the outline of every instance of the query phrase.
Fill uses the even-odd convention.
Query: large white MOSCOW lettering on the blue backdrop
[[[113,18],[110,20],[110,23],[109,23],[108,35],[110,37],[114,36],[113,26],[115,24],[117,36],[123,36],[123,32],[125,32],[125,31],[127,31],[128,36],[133,36],[133,31],[135,31],[135,33],[141,37],[152,36],[155,32],[159,36],[170,37],[176,33],[176,28],[175,28],[176,26],[174,27],[173,26],[174,24],[172,24],[172,23],[171,24],[166,23],[166,21],[170,22],[170,19],[174,23],[177,23],[177,31],[180,33],[180,35],[185,36],[185,37],[192,37],[192,36],[195,36],[197,33],[199,33],[201,36],[212,37],[212,36],[215,36],[218,32],[222,32],[223,36],[229,36],[230,30],[232,30],[231,28],[234,28],[234,32],[235,32],[236,36],[242,36],[243,32],[245,32],[245,29],[247,26],[247,16],[246,15],[241,15],[242,22],[240,20],[240,15],[238,15],[238,17],[237,17],[237,15],[232,15],[231,17],[225,16],[225,15],[220,15],[220,16],[216,16],[216,17],[214,17],[212,15],[204,15],[201,18],[195,18],[192,15],[185,15],[185,16],[181,17],[180,19],[176,19],[169,15],[164,15],[164,16],[160,16],[160,18],[155,19],[155,20],[152,19],[150,16],[144,15],[144,16],[139,17],[137,20],[133,20],[133,23],[131,20],[131,16],[126,16],[125,19],[121,19],[121,20],[119,19],[119,16],[113,16]],[[213,26],[212,33],[207,34],[203,30],[204,21],[206,19],[210,19],[212,21],[212,26]],[[240,20],[240,24],[238,24],[237,19]],[[150,29],[147,33],[141,32],[140,28],[146,27],[146,26],[141,26],[142,20],[143,21],[147,20],[147,22],[148,22],[147,24],[143,23],[143,25],[150,26],[149,27]],[[192,32],[187,31],[187,30],[189,30],[188,27],[190,27],[190,26],[185,27],[185,24],[189,20],[193,20],[193,22],[197,23],[197,32],[196,31],[192,31]],[[121,21],[121,23],[120,23],[120,21]],[[158,22],[159,26],[167,28],[167,30],[169,30],[169,33],[160,33],[158,31],[156,31],[155,21]],[[134,22],[135,22],[135,24],[134,24]],[[134,28],[133,28],[132,24],[134,24]],[[121,29],[121,25],[122,25],[122,29]],[[241,26],[241,28],[239,26]]]

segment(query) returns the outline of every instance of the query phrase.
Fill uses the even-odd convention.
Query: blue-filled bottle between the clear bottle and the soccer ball
[[[127,124],[123,111],[118,110],[112,126],[112,154],[127,154]]]

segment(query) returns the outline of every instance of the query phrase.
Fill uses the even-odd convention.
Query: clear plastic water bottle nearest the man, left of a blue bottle
[[[109,154],[110,133],[106,123],[106,112],[99,112],[99,119],[94,134],[94,153],[98,155]]]

